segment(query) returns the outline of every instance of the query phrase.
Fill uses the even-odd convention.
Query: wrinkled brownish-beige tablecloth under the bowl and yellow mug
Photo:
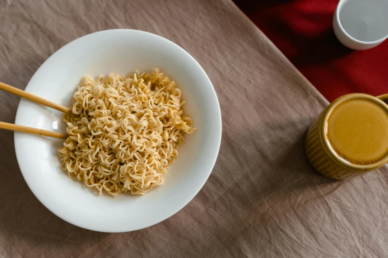
[[[113,28],[161,35],[205,69],[222,109],[216,166],[162,223],[99,233],[34,197],[0,130],[0,256],[388,256],[387,168],[343,182],[312,169],[303,138],[328,102],[230,0],[0,0],[0,81],[23,89],[55,50]],[[18,102],[0,91],[0,121]]]

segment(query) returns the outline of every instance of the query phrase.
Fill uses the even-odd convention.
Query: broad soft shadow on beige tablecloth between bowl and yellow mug
[[[224,246],[233,246],[233,239],[255,228],[253,224],[275,223],[274,217],[302,209],[346,183],[324,177],[310,165],[304,138],[313,120],[267,125],[235,136],[225,129],[215,169],[196,197],[208,204],[197,223],[213,221],[213,234]],[[227,177],[234,183],[227,185]],[[218,196],[209,200],[215,189]]]

